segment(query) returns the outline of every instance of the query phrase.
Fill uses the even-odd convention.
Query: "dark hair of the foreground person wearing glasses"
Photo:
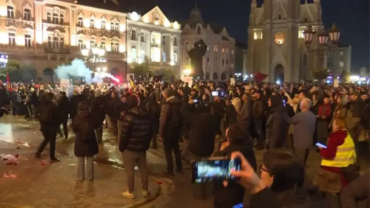
[[[229,130],[230,131],[230,130]],[[302,187],[305,181],[305,166],[294,154],[283,150],[271,150],[263,155],[263,165],[274,177],[270,189],[283,192],[295,187]]]

